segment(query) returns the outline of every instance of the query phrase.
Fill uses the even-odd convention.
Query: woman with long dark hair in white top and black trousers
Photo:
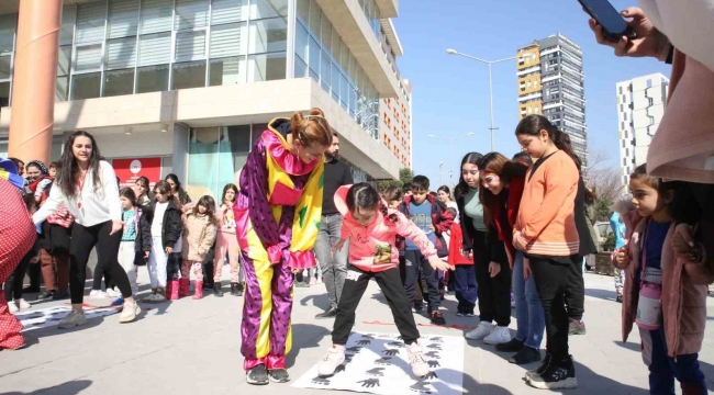
[[[122,241],[122,205],[119,199],[116,174],[109,162],[101,159],[94,137],[83,131],[72,133],[60,158],[55,188],[45,204],[33,215],[41,224],[64,203],[75,217],[69,245],[69,290],[72,311],[59,321],[59,328],[85,325],[82,311],[85,280],[89,252],[97,246],[98,268],[112,272],[124,297],[120,323],[136,318],[141,308],[132,297],[126,272],[119,264],[119,245]]]

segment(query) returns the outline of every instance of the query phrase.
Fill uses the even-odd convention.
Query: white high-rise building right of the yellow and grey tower
[[[647,150],[665,115],[669,79],[657,72],[617,82],[617,128],[623,185],[647,161]]]

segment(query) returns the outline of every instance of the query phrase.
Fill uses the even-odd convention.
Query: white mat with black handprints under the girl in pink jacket
[[[344,369],[338,368],[334,376],[323,379],[317,376],[315,363],[292,386],[386,395],[461,394],[464,338],[425,336],[419,342],[431,366],[426,377],[412,375],[406,349],[399,335],[353,332],[346,346]]]

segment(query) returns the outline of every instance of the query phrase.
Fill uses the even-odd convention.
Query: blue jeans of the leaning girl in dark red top
[[[528,281],[523,280],[523,252],[521,251],[515,253],[511,279],[517,323],[515,338],[525,340],[525,345],[531,348],[538,349],[543,340],[546,321],[533,274],[531,274]]]

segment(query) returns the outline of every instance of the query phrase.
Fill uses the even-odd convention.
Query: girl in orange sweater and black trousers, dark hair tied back
[[[580,160],[567,144],[566,134],[545,116],[524,117],[515,136],[536,162],[526,173],[513,226],[513,247],[524,251],[529,260],[548,337],[545,360],[525,379],[536,388],[577,388],[576,368],[568,349],[566,300],[583,290],[580,238],[573,215]]]

